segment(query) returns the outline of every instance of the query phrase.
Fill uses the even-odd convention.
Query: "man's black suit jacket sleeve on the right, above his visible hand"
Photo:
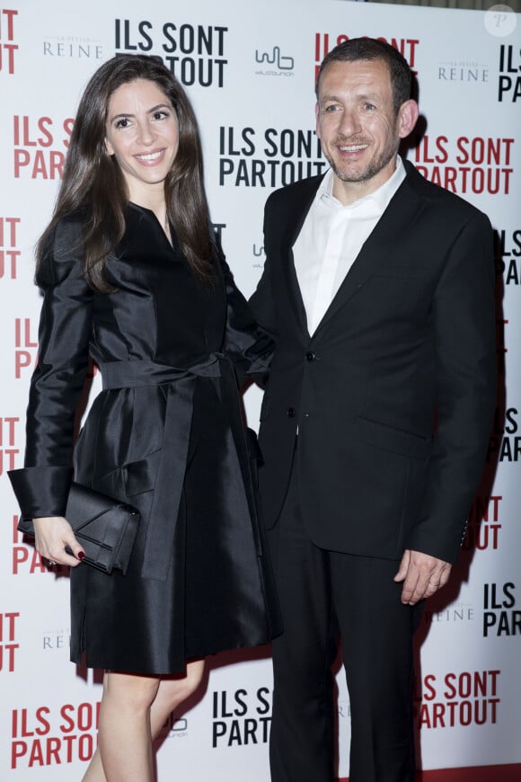
[[[406,547],[455,562],[496,404],[494,264],[489,219],[456,237],[434,297],[437,427],[421,511]]]

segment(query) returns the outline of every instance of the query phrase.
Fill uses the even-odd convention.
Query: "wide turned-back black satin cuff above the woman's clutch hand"
[[[23,467],[8,475],[22,518],[65,516],[72,467]]]

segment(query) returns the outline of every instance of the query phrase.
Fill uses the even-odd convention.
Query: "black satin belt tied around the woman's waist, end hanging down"
[[[236,381],[231,361],[221,353],[185,369],[149,360],[109,361],[100,365],[103,390],[140,386],[166,386],[166,411],[162,451],[155,479],[155,493],[146,530],[141,574],[165,581],[172,562],[172,547],[181,502],[182,486],[190,445],[192,400],[197,378],[222,378],[224,404],[237,406]],[[230,398],[234,389],[235,400]],[[232,418],[235,416],[232,415]],[[237,429],[231,422],[235,447]]]

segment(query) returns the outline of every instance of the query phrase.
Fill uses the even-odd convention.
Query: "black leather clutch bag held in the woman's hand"
[[[137,535],[136,508],[81,484],[71,484],[66,504],[66,520],[84,547],[83,562],[103,573],[127,572]],[[34,538],[32,519],[21,519],[18,529]],[[66,547],[68,554],[72,551]]]

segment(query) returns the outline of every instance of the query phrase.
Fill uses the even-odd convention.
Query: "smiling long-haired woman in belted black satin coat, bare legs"
[[[198,686],[201,658],[266,643],[278,625],[234,375],[265,370],[269,341],[216,253],[196,120],[158,58],[110,59],[87,85],[37,281],[15,490],[22,515],[38,508],[40,555],[72,568],[72,661],[106,671],[84,780],[148,782],[152,739]],[[126,575],[81,564],[64,518],[89,355],[103,390],[75,480],[140,512]]]

